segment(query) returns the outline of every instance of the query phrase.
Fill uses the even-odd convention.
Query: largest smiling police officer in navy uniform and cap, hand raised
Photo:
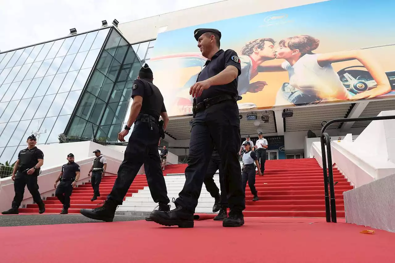
[[[244,224],[245,194],[238,160],[241,137],[236,103],[241,99],[237,92],[240,59],[235,51],[220,49],[221,32],[216,29],[196,29],[194,37],[202,55],[208,60],[197,82],[190,88],[194,97],[194,121],[188,167],[185,169],[186,181],[175,200],[176,208],[169,212],[153,211],[151,218],[162,225],[194,226],[193,214],[215,145],[220,154],[220,175],[224,176],[230,209],[222,225],[241,226]]]

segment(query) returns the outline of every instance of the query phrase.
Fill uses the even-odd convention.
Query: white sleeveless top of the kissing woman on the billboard
[[[348,100],[351,96],[340,81],[339,75],[331,64],[318,65],[319,54],[305,54],[291,66],[288,61],[281,64],[288,71],[290,85],[303,93],[318,98],[337,98]]]

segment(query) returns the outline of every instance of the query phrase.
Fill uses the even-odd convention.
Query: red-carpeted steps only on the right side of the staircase
[[[344,218],[343,192],[354,187],[333,170],[337,217]],[[313,159],[268,160],[263,177],[256,176],[259,201],[246,187],[244,216],[325,217],[324,175]]]

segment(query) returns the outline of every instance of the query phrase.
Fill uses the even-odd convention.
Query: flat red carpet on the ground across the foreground
[[[191,229],[143,220],[0,227],[1,262],[394,262],[395,234],[359,233],[365,229],[307,218],[246,218],[237,228],[212,220]]]

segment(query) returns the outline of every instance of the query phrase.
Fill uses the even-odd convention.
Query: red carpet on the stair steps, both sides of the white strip
[[[164,175],[184,173],[186,164],[167,165]],[[353,189],[350,182],[335,169],[335,198],[337,217],[344,218],[343,192]],[[101,197],[90,201],[93,195],[90,183],[73,190],[69,213],[79,213],[81,208],[95,208],[113,188],[116,175],[106,175],[100,184]],[[137,175],[126,196],[132,196],[148,186],[145,175]],[[253,202],[250,188],[246,187],[246,217],[325,217],[324,177],[318,162],[313,159],[268,160],[265,175],[256,176],[256,189],[260,201]],[[56,197],[48,197],[46,212],[60,213],[62,204]],[[37,205],[27,205],[19,209],[21,213],[37,213]]]

